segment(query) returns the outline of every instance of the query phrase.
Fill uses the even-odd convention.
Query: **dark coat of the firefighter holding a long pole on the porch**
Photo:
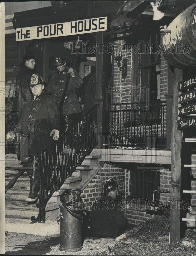
[[[68,69],[65,69],[59,73],[59,71],[56,69],[47,87],[47,91],[52,92],[52,95],[56,99],[58,106],[60,104],[60,100],[62,98],[63,91],[65,88],[65,83],[67,80],[67,76],[68,76],[67,70]],[[63,103],[64,116],[81,112],[78,97],[76,96],[76,93],[75,93],[75,88],[79,88],[82,86],[82,79],[76,70],[74,70],[74,73],[75,73],[75,77],[70,77],[67,93]]]

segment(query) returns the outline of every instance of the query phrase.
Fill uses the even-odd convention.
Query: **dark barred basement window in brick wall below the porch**
[[[153,190],[158,190],[160,186],[160,171],[152,169],[130,170],[129,191],[131,197],[144,197],[153,199]],[[158,197],[158,193],[155,196]],[[159,198],[155,198],[159,199]]]

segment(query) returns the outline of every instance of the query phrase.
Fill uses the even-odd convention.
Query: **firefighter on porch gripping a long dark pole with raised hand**
[[[81,116],[81,107],[75,93],[75,88],[82,86],[82,79],[78,72],[72,67],[68,67],[66,65],[67,63],[68,62],[66,62],[63,57],[55,57],[53,65],[56,66],[56,70],[53,72],[47,87],[47,91],[52,93],[59,106],[65,88],[65,83],[67,81],[67,76],[68,73],[70,73],[71,77],[63,103],[65,131]]]

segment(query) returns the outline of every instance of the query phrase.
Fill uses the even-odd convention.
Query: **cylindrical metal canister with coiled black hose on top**
[[[60,251],[82,250],[82,198],[81,189],[65,189],[60,195]]]

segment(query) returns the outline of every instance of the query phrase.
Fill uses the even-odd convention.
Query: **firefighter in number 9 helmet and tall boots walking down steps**
[[[22,132],[30,132],[30,141],[21,140],[19,147],[23,168],[30,177],[29,204],[38,200],[40,188],[41,150],[46,149],[59,138],[60,113],[55,99],[44,90],[47,83],[33,74],[30,80],[31,97],[27,100],[21,118]]]

